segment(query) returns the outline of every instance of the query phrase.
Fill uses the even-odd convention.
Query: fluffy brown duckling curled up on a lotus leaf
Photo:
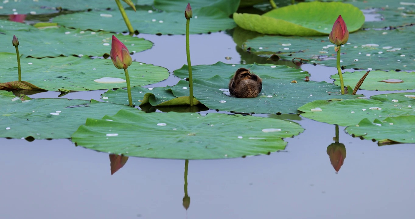
[[[257,97],[262,90],[262,80],[246,68],[238,68],[229,82],[229,93],[239,98]]]

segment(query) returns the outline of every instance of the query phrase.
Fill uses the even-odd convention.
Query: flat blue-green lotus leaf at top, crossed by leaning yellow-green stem
[[[186,5],[184,6],[186,8]],[[182,12],[159,12],[153,10],[127,10],[127,16],[134,29],[146,34],[186,34],[186,18]],[[127,27],[119,11],[80,12],[55,17],[53,22],[66,27],[125,32]],[[232,19],[216,8],[193,10],[190,19],[190,34],[217,32],[236,26]]]

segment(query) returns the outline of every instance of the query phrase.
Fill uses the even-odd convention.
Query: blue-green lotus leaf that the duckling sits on
[[[340,88],[326,82],[305,82],[302,78],[277,79],[268,75],[262,78],[262,91],[255,98],[237,98],[223,94],[220,89],[228,89],[229,79],[216,75],[208,80],[193,80],[193,96],[203,105],[214,110],[246,113],[298,113],[297,108],[313,100],[339,98],[335,95]],[[297,80],[297,83],[291,83]],[[186,80],[181,80],[171,88],[176,97],[188,96]],[[342,95],[342,98],[355,98],[352,95]],[[226,101],[226,102],[223,102]]]

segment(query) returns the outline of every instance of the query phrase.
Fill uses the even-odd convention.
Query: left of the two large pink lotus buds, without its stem
[[[112,35],[110,56],[112,63],[118,69],[126,69],[132,63],[132,58],[129,55],[127,47],[114,35]]]

